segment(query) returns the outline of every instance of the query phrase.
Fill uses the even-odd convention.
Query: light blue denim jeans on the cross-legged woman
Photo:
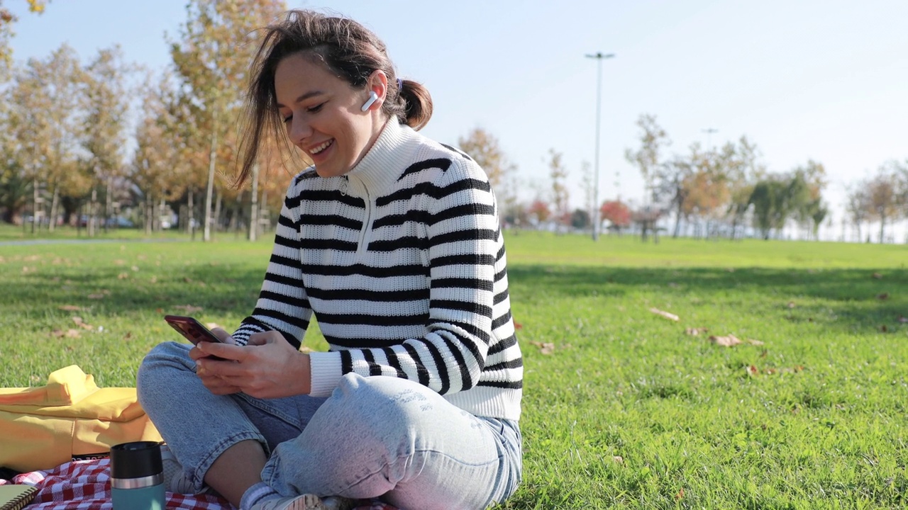
[[[478,510],[520,482],[515,421],[474,417],[428,387],[348,374],[331,397],[213,395],[192,346],[167,342],[139,368],[139,402],[199,490],[218,456],[259,441],[262,481],[284,496],[381,499],[404,510]]]

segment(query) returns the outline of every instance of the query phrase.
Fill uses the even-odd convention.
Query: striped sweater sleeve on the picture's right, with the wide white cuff
[[[385,348],[341,350],[342,373],[410,378],[442,395],[479,381],[492,331],[498,215],[478,165],[457,159],[442,175],[424,191],[430,280],[425,335]]]

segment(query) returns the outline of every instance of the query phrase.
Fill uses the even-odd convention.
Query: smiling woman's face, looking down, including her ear
[[[362,112],[372,90],[380,92],[380,100]],[[350,172],[381,131],[382,84],[353,89],[308,55],[281,60],[274,72],[274,92],[287,135],[311,158],[321,177]]]

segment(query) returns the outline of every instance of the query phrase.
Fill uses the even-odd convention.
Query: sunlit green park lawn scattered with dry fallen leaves
[[[144,352],[176,338],[163,314],[235,326],[270,244],[222,239],[0,246],[0,385],[77,364],[133,386]],[[908,247],[507,242],[525,456],[502,508],[908,507]],[[306,344],[324,348],[317,329]]]

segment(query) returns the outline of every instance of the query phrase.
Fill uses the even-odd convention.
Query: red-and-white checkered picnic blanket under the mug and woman
[[[38,493],[28,510],[112,510],[110,459],[74,460],[50,471],[33,471],[0,480],[0,485],[35,485]],[[184,495],[168,492],[168,510],[232,510],[233,505],[216,495]],[[395,510],[378,501],[356,510]]]

